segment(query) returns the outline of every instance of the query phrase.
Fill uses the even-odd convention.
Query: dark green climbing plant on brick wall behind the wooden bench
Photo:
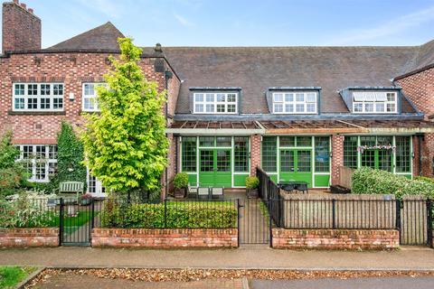
[[[52,180],[54,188],[60,182],[83,182],[86,184],[87,170],[83,165],[84,147],[75,135],[71,124],[62,121],[61,131],[57,135],[57,176]],[[52,188],[52,189],[54,189]]]

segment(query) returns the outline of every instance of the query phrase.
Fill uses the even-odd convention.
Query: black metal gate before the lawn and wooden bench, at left
[[[63,246],[90,246],[95,221],[95,203],[92,199],[61,199],[60,243]]]

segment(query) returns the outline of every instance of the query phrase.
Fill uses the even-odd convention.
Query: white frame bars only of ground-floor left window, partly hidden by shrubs
[[[17,159],[17,162],[23,163],[31,163],[32,164],[32,175],[27,180],[29,182],[50,182],[50,164],[53,166],[57,165],[57,144],[16,144],[15,145],[20,150],[20,156]],[[24,146],[32,147],[32,156],[30,158],[24,158]],[[42,155],[41,158],[35,156],[37,147],[45,147],[45,155]],[[55,158],[52,158],[50,155],[50,149],[54,148]],[[36,168],[38,163],[43,163],[43,168],[45,171],[45,176],[43,179],[36,177]]]

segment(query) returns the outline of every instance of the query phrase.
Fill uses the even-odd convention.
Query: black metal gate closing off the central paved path
[[[241,199],[239,201],[240,244],[269,244],[269,210],[266,201]]]

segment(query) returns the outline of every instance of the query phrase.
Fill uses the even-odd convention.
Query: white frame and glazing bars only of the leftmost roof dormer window
[[[196,101],[197,95],[203,95],[203,101]],[[213,101],[206,101],[206,96],[212,95]],[[224,95],[224,101],[217,101],[217,95]],[[235,101],[228,102],[228,96],[234,95]],[[238,113],[238,92],[195,92],[193,93],[193,113],[194,114],[205,114],[205,115],[236,115]],[[196,105],[203,105],[203,111],[197,111]],[[214,109],[212,111],[206,111],[206,105],[213,105]],[[224,105],[224,112],[217,111],[217,105]],[[228,112],[228,106],[235,105],[235,111]]]

